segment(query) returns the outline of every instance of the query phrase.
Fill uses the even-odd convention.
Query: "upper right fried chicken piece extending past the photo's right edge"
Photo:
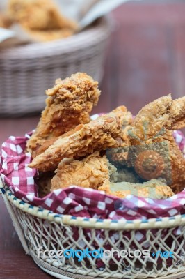
[[[181,129],[185,126],[185,96],[172,100],[171,95],[163,96],[145,105],[136,115],[134,129],[129,142],[140,143],[140,140],[152,141],[165,128]]]

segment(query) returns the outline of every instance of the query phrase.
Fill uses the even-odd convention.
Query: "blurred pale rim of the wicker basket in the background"
[[[111,33],[112,28],[112,17],[110,15],[104,15],[99,17],[99,21],[94,26],[88,27],[67,38],[1,49],[0,59],[35,59],[35,57],[51,56],[53,53],[56,55],[61,53],[65,54],[65,52],[76,52],[91,45],[96,45],[98,41],[105,40]]]

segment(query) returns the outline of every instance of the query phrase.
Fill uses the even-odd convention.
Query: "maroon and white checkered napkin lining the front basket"
[[[28,167],[31,154],[24,153],[26,141],[31,136],[9,137],[1,147],[1,178],[15,197],[41,206],[55,213],[70,214],[86,218],[110,218],[134,220],[135,218],[159,218],[185,213],[185,190],[165,200],[146,199],[128,195],[119,199],[105,195],[103,191],[71,186],[63,190],[54,190],[44,198],[38,197],[38,188],[34,178],[37,170]],[[185,156],[185,137],[179,131],[174,132],[175,140]]]

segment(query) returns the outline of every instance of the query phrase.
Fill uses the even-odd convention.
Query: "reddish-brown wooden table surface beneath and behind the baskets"
[[[184,95],[185,3],[158,2],[128,3],[114,11],[102,96],[94,112],[124,104],[136,114],[154,98]],[[32,130],[38,119],[0,119],[0,144]],[[51,278],[25,255],[1,198],[0,211],[0,279]]]

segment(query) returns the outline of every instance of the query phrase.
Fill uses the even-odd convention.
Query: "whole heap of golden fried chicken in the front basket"
[[[29,167],[41,172],[58,167],[51,190],[77,185],[120,198],[132,194],[165,199],[184,189],[185,159],[172,131],[184,127],[185,97],[154,100],[134,121],[124,106],[90,121],[99,90],[88,75],[56,80],[47,96],[47,107],[27,148],[35,157]],[[102,151],[112,148],[106,153],[110,158],[102,156]],[[108,159],[131,169],[116,169]],[[141,184],[140,178],[148,181]]]

